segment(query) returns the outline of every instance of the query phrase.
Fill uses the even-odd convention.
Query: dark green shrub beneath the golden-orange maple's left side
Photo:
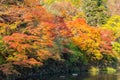
[[[86,53],[82,51],[78,46],[76,46],[73,42],[66,44],[63,52],[63,55],[68,54],[69,58],[66,61],[70,64],[88,64]]]

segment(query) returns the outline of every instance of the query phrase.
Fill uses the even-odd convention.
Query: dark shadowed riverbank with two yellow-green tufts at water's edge
[[[79,73],[90,73],[91,75],[98,75],[101,72],[105,72],[106,74],[112,74],[118,71],[118,69],[109,68],[109,67],[91,67],[90,65],[83,65],[83,64],[72,64],[72,65],[66,65],[66,63],[55,61],[55,60],[49,60],[47,61],[44,66],[38,67],[23,67],[23,66],[15,66],[14,69],[15,72],[12,72],[11,74],[5,75],[1,72],[1,78],[5,80],[25,80],[28,78],[35,78],[39,77],[42,78],[43,76],[49,76],[49,75],[56,75],[56,74],[79,74]]]

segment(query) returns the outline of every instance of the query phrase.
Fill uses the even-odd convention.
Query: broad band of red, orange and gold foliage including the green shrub
[[[112,43],[117,30],[90,26],[84,18],[53,15],[37,0],[30,1],[33,3],[25,0],[24,4],[10,4],[0,12],[0,64],[41,67],[53,59],[92,65],[108,61],[106,55],[115,58],[119,48]]]

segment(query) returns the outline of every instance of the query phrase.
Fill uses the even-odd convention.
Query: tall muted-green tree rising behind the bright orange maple
[[[99,26],[106,23],[109,17],[106,2],[107,0],[83,0],[83,11],[88,24]]]

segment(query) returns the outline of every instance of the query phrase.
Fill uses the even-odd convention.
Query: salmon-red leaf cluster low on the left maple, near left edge
[[[28,36],[26,34],[13,33],[11,36],[5,36],[3,40],[9,45],[10,48],[22,52],[30,48],[31,41],[36,41],[38,38],[35,36]]]

